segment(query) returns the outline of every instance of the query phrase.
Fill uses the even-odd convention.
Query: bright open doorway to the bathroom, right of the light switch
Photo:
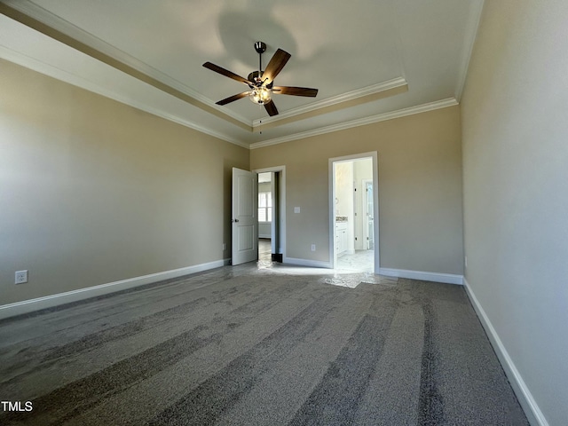
[[[376,153],[329,160],[330,259],[332,268],[379,272],[378,170]]]

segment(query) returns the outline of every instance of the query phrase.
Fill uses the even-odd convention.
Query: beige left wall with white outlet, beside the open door
[[[230,257],[248,150],[4,60],[0,93],[0,304]]]

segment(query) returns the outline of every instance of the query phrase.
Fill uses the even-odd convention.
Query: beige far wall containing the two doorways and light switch
[[[461,274],[458,106],[252,150],[252,169],[286,166],[286,255],[329,261],[328,159],[371,151],[378,153],[381,266]]]

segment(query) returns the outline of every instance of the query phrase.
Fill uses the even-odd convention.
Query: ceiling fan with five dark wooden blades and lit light
[[[263,42],[255,43],[255,50],[258,53],[258,71],[253,71],[248,75],[247,78],[241,77],[241,75],[236,75],[225,69],[219,67],[211,62],[205,62],[203,67],[209,68],[211,71],[215,71],[218,74],[225,75],[237,82],[245,83],[248,85],[249,91],[243,91],[237,93],[236,95],[230,96],[223,100],[219,100],[217,105],[226,105],[235,100],[248,97],[252,102],[258,105],[264,105],[266,112],[272,115],[278,115],[278,109],[274,105],[272,100],[272,94],[279,95],[292,95],[292,96],[305,96],[314,98],[318,94],[318,89],[310,89],[307,87],[289,87],[289,86],[274,86],[274,78],[280,73],[282,68],[288,62],[288,59],[292,55],[288,51],[277,50],[276,53],[268,62],[268,65],[262,70],[263,66],[263,53],[266,51],[266,44]]]

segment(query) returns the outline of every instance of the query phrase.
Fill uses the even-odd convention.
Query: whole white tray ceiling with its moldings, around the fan
[[[11,8],[0,15],[1,58],[251,147],[455,105],[483,6],[483,0],[0,3]],[[317,98],[275,95],[274,117],[248,99],[215,105],[247,87],[201,64],[246,77],[258,67],[256,41],[267,44],[263,66],[278,48],[292,55],[276,84],[318,88]]]

